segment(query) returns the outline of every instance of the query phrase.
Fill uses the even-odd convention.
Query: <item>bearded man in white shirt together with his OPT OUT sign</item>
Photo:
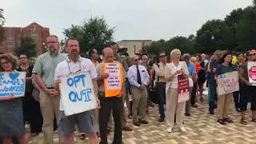
[[[74,130],[88,134],[90,143],[98,143],[96,122],[92,109],[97,107],[97,74],[90,59],[79,56],[75,38],[66,41],[69,58],[59,63],[55,70],[55,89],[60,90],[60,117],[58,130],[65,143],[74,143]]]

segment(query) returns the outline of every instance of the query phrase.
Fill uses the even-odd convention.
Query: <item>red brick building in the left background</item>
[[[20,45],[22,37],[34,39],[38,48],[38,54],[46,52],[46,38],[50,35],[49,28],[33,22],[26,27],[4,27],[5,38],[0,45],[0,52],[11,53],[14,47]]]

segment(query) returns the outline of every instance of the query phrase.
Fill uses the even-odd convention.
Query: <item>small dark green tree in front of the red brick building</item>
[[[21,38],[20,46],[14,48],[14,53],[16,55],[26,54],[28,58],[34,58],[37,54],[37,46],[34,40],[30,37]]]

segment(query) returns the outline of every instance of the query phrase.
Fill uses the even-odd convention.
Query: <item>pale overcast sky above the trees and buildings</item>
[[[209,19],[225,18],[252,0],[0,0],[5,26],[38,22],[63,38],[65,28],[100,16],[115,27],[115,40],[188,36]]]

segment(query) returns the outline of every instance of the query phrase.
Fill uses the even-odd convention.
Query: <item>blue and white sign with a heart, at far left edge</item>
[[[25,95],[26,72],[0,73],[0,100],[23,97]]]

